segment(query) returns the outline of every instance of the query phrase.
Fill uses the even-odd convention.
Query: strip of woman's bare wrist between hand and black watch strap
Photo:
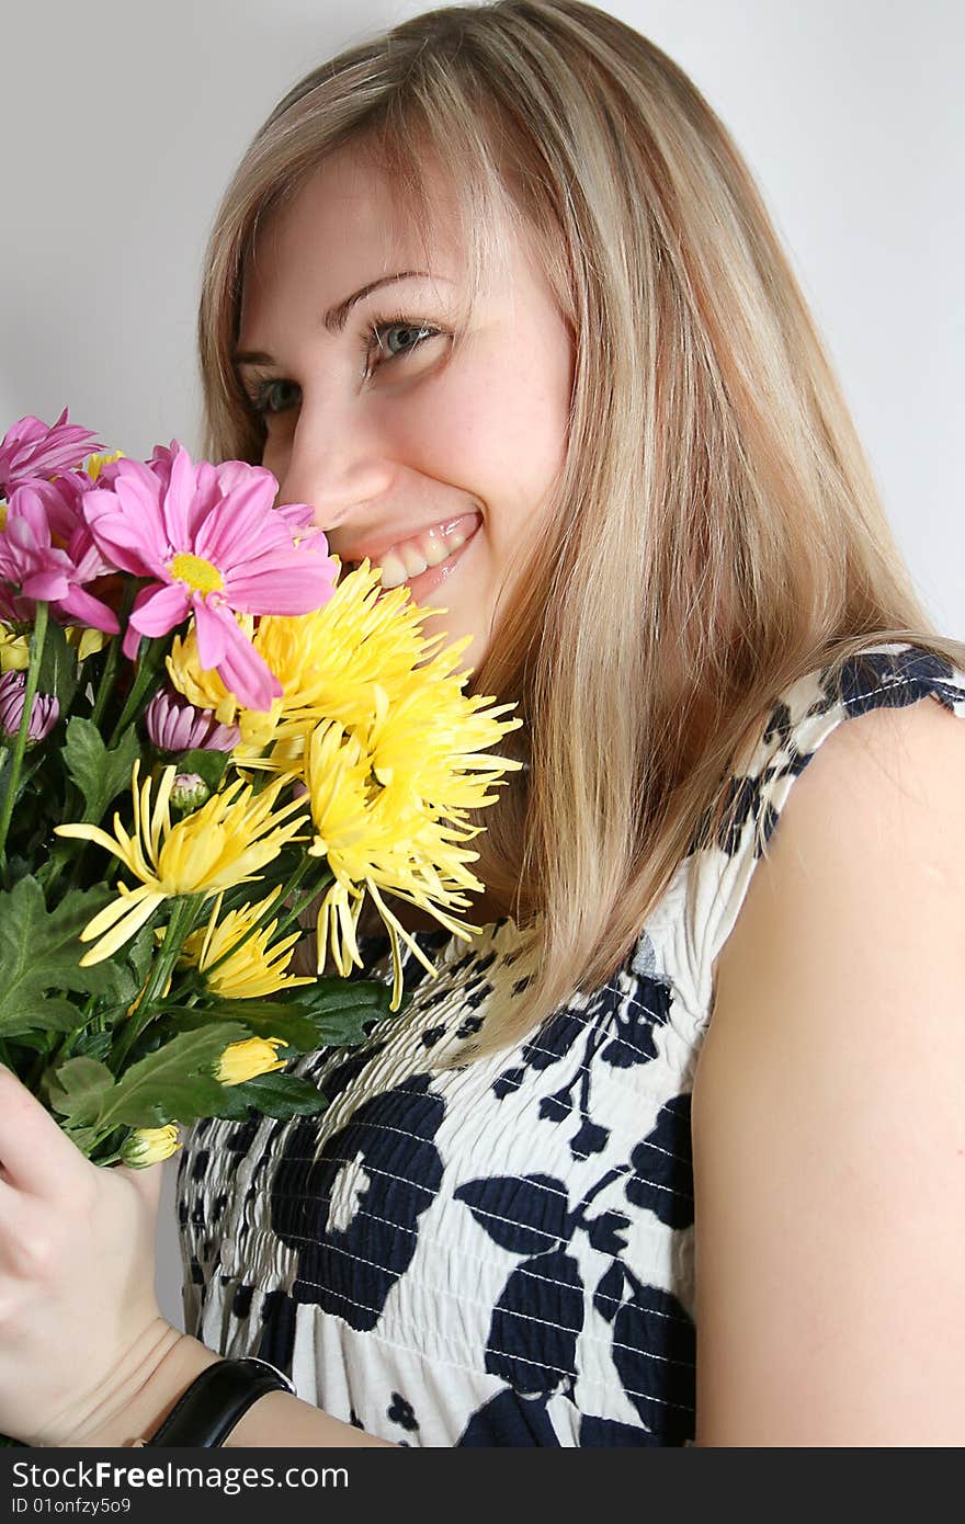
[[[117,1373],[110,1398],[64,1443],[110,1449],[145,1439],[168,1417],[192,1381],[220,1358],[159,1318]]]

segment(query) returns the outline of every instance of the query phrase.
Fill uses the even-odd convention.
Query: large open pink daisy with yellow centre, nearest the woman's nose
[[[195,465],[174,440],[148,465],[114,462],[110,488],[84,494],[84,515],[114,565],[151,579],[134,600],[125,654],[194,614],[201,666],[245,709],[268,710],[281,684],[235,614],[308,614],[332,596],[337,567],[322,532],[302,538],[274,511],[270,471],[229,466]]]

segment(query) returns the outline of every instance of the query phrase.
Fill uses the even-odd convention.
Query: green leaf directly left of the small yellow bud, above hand
[[[213,1070],[229,1042],[239,1042],[247,1035],[230,1021],[181,1032],[122,1074],[98,1114],[98,1126],[127,1122],[131,1128],[160,1128],[168,1122],[189,1125],[198,1117],[216,1116],[224,1085],[213,1077]]]

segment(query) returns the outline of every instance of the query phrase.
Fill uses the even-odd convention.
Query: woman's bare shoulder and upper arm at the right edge
[[[698,1443],[965,1443],[963,1018],[965,721],[922,700],[819,747],[717,963]]]

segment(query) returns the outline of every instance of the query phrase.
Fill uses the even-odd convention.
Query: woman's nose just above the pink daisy
[[[265,457],[265,465],[271,466]],[[281,469],[279,469],[281,468]],[[279,482],[276,503],[309,503],[316,523],[326,532],[345,524],[366,503],[390,495],[396,466],[378,431],[358,416],[325,416],[302,408],[284,459],[274,466]]]

